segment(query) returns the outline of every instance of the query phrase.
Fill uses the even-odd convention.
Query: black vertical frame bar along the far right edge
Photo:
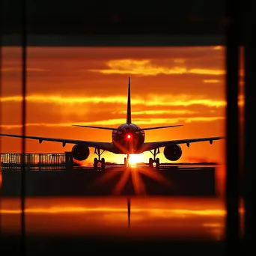
[[[253,61],[255,61],[255,22],[252,19],[252,1],[245,1],[245,14],[243,16],[243,31],[244,31],[244,58],[245,58],[245,135],[244,135],[244,201],[245,201],[245,249],[246,255],[252,255],[255,246],[252,243],[255,240],[255,69],[253,68]]]

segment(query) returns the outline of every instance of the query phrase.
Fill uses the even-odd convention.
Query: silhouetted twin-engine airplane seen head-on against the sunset
[[[225,138],[223,136],[219,137],[207,137],[207,138],[186,138],[186,139],[177,139],[177,140],[168,140],[168,141],[154,141],[154,142],[145,142],[145,131],[152,129],[164,129],[171,127],[181,127],[182,124],[169,125],[164,127],[148,127],[140,128],[136,124],[132,124],[132,111],[131,111],[131,87],[130,87],[130,78],[128,82],[128,96],[127,96],[127,122],[126,124],[121,124],[118,128],[114,127],[93,127],[93,126],[84,126],[73,124],[73,127],[84,127],[84,128],[94,128],[94,129],[107,129],[112,131],[112,142],[100,142],[100,141],[84,141],[77,139],[67,139],[67,138],[46,138],[39,136],[29,136],[25,135],[24,138],[38,140],[41,144],[43,141],[53,141],[62,143],[63,147],[66,144],[74,144],[72,148],[73,159],[77,161],[84,161],[88,159],[90,155],[89,147],[94,148],[94,153],[97,157],[94,158],[94,168],[98,168],[98,164],[101,165],[101,170],[105,169],[105,159],[101,158],[104,151],[109,151],[115,154],[125,154],[127,157],[124,158],[124,167],[129,166],[129,154],[140,154],[145,151],[150,151],[153,158],[149,159],[149,166],[153,168],[155,163],[156,169],[159,169],[160,162],[159,158],[156,156],[160,153],[159,148],[164,147],[163,153],[166,159],[169,161],[177,161],[182,156],[182,149],[180,144],[186,144],[187,147],[191,143],[201,142],[201,141],[210,141],[210,144],[213,144],[213,141]],[[23,138],[22,135],[13,135],[0,133],[1,136],[6,137],[15,137]]]

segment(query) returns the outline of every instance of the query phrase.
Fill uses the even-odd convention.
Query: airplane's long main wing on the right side
[[[194,142],[202,142],[202,141],[210,141],[210,144],[213,144],[213,141],[217,141],[219,139],[223,139],[225,137],[208,137],[208,138],[186,138],[180,140],[172,140],[172,141],[156,141],[156,142],[145,142],[140,151],[141,153],[148,150],[153,150],[159,147],[165,147],[168,144],[187,144],[189,147],[190,143]]]

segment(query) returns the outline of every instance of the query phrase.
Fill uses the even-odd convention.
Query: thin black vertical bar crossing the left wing
[[[25,124],[26,124],[26,82],[27,82],[27,20],[26,20],[26,0],[22,0],[22,168],[21,168],[21,240],[20,252],[21,255],[26,253],[26,234],[25,234]]]

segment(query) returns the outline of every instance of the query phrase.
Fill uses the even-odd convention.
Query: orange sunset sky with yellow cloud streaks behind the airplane
[[[21,50],[2,50],[1,132],[20,134]],[[111,132],[71,124],[118,127],[126,121],[131,77],[132,121],[141,127],[184,124],[146,132],[146,141],[225,135],[225,56],[206,47],[30,47],[28,135],[111,141]],[[1,152],[21,141],[1,138]],[[64,152],[72,145],[28,141],[28,152]],[[225,141],[182,146],[180,162],[224,162]],[[161,149],[161,152],[163,149]],[[94,150],[88,158],[93,161]],[[124,156],[104,153],[106,161]],[[148,162],[150,153],[141,155]],[[163,154],[162,162],[168,162]]]

